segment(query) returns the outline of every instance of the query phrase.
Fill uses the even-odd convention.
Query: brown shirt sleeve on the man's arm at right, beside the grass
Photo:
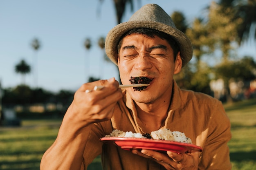
[[[228,141],[231,139],[230,121],[220,101],[211,106],[206,143],[200,155],[199,170],[231,170]]]

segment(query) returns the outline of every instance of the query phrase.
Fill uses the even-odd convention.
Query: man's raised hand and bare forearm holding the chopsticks
[[[94,91],[94,86],[104,86]],[[86,93],[86,90],[92,90]],[[83,84],[75,93],[54,144],[41,160],[41,170],[80,170],[86,141],[93,123],[110,120],[123,97],[115,78]]]

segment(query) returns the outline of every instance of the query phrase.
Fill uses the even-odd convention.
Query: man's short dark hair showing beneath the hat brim
[[[170,44],[171,48],[173,49],[173,57],[174,57],[174,61],[176,60],[176,56],[178,54],[178,52],[180,51],[180,47],[178,46],[177,42],[171,37],[171,35],[164,33],[162,31],[158,31],[155,29],[148,29],[148,28],[137,28],[137,29],[132,29],[126,33],[124,33],[117,45],[117,50],[118,53],[121,49],[121,44],[123,43],[123,39],[124,37],[126,37],[127,35],[131,35],[131,34],[142,34],[142,35],[146,35],[150,38],[154,38],[155,36],[158,36],[159,38],[161,38],[162,40],[166,40],[168,42],[168,44]]]

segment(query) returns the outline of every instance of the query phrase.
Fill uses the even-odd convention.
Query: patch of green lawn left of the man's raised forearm
[[[24,120],[0,127],[0,170],[39,170],[40,159],[56,139],[61,120]]]

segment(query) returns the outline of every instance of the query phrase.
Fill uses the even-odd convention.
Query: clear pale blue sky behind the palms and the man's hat
[[[192,21],[205,15],[202,9],[211,0],[141,0],[141,4],[135,2],[134,11],[147,3],[159,4],[168,14],[181,11]],[[123,22],[131,15],[127,9]],[[116,66],[102,61],[103,51],[97,45],[99,37],[105,37],[116,24],[112,0],[104,0],[102,4],[99,0],[1,0],[2,87],[15,87],[22,82],[21,76],[14,71],[20,60],[24,59],[33,68],[35,53],[30,43],[34,38],[40,40],[41,48],[36,53],[37,83],[32,72],[25,77],[26,84],[31,87],[37,84],[54,92],[61,89],[75,91],[88,76],[118,78]],[[85,38],[92,40],[90,51],[83,46]],[[240,47],[238,55],[255,58],[255,42]]]

